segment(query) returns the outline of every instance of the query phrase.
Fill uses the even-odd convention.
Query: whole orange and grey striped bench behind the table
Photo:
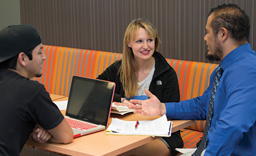
[[[75,49],[44,45],[46,61],[43,75],[34,80],[43,83],[50,94],[69,96],[73,75],[96,78],[109,65],[122,58],[121,53],[97,50]],[[217,64],[166,59],[177,73],[180,87],[180,100],[202,95],[209,85],[210,74]],[[194,125],[181,130],[184,148],[195,148],[203,136],[205,121],[196,121]],[[45,155],[45,154],[44,154]]]

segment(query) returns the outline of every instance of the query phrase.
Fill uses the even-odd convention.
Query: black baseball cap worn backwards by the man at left
[[[0,63],[26,52],[41,43],[41,37],[31,25],[10,25],[0,31]]]

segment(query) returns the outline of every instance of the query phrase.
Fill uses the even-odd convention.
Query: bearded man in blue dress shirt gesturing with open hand
[[[221,60],[224,70],[216,90],[213,118],[204,155],[256,154],[256,55],[249,44],[249,17],[234,4],[213,8],[206,24],[206,57]],[[164,104],[145,90],[148,100],[130,100],[134,113],[171,119],[206,119],[216,70],[204,94]]]

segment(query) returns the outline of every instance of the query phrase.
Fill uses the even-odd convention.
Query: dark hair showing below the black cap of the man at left
[[[32,49],[29,49],[27,50],[26,52],[24,52],[29,60],[32,60],[32,51],[34,50],[34,48]],[[1,68],[9,68],[9,69],[13,69],[13,70],[16,70],[16,64],[17,64],[17,58],[18,58],[19,54],[18,55],[15,55],[13,56],[12,58],[10,59],[7,59],[6,61],[4,62],[1,62],[0,63],[0,67]]]

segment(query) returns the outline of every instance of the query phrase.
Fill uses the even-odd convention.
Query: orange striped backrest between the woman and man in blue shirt
[[[218,64],[166,59],[177,73],[180,100],[192,99],[203,94],[209,85],[210,74]]]

